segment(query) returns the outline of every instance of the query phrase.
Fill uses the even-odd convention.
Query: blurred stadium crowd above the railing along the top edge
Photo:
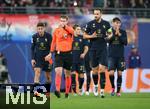
[[[0,7],[150,8],[149,0],[1,0]]]

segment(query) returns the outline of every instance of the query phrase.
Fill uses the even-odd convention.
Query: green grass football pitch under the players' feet
[[[50,97],[50,109],[150,109],[150,93],[122,93],[121,97],[106,94],[105,98],[90,96],[73,96],[69,99]]]

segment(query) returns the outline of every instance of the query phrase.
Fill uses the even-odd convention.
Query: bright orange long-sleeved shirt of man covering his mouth
[[[55,29],[52,38],[51,52],[68,52],[72,50],[74,30],[71,26],[65,28],[58,27]]]

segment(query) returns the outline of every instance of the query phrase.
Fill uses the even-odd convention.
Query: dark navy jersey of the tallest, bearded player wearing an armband
[[[106,47],[106,32],[110,28],[110,24],[108,21],[101,20],[101,22],[97,22],[96,20],[90,21],[86,27],[85,32],[89,35],[92,35],[94,32],[97,33],[97,38],[90,39],[90,50],[96,50],[103,47]]]

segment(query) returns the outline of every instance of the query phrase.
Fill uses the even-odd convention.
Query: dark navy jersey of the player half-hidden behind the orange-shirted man
[[[80,54],[84,51],[84,46],[88,46],[88,41],[83,39],[83,36],[74,36],[73,41],[73,63],[80,62]]]

